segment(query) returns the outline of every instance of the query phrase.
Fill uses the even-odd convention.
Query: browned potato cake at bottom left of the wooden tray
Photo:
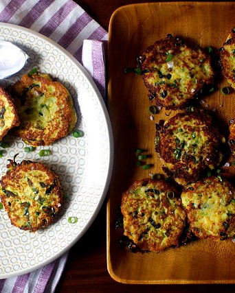
[[[133,183],[122,195],[124,235],[143,251],[177,246],[186,220],[177,194],[166,180]]]

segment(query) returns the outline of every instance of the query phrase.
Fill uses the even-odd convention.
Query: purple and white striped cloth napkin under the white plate
[[[1,0],[0,22],[28,27],[67,49],[92,75],[104,97],[104,51],[108,34],[74,1]],[[65,253],[34,272],[0,279],[0,292],[54,292],[67,256]]]

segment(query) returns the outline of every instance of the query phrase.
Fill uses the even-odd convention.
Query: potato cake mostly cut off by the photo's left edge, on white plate
[[[0,87],[0,141],[10,129],[19,124],[12,97]]]

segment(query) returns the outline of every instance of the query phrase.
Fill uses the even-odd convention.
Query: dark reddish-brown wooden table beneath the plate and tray
[[[109,30],[111,14],[120,6],[144,0],[76,0],[105,30]],[[235,285],[128,285],[117,283],[107,271],[106,204],[87,233],[71,248],[65,271],[58,283],[59,292],[158,292],[204,293],[235,292]],[[226,261],[226,260],[225,260]]]

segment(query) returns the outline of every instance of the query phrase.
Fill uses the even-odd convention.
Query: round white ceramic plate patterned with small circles
[[[0,210],[0,279],[24,274],[63,255],[87,231],[96,218],[109,187],[113,165],[113,139],[107,108],[83,67],[65,49],[49,38],[17,25],[0,23],[0,40],[9,40],[23,49],[30,59],[23,70],[12,78],[0,81],[5,87],[34,67],[62,82],[72,97],[78,114],[77,129],[85,135],[72,134],[46,149],[50,156],[40,157],[39,150],[26,153],[25,143],[17,137],[5,137],[10,148],[0,158],[0,175],[8,159],[19,153],[16,161],[41,161],[60,176],[66,200],[56,222],[30,233],[10,224],[7,213]],[[44,147],[45,149],[45,147]],[[69,217],[78,218],[70,224]]]

